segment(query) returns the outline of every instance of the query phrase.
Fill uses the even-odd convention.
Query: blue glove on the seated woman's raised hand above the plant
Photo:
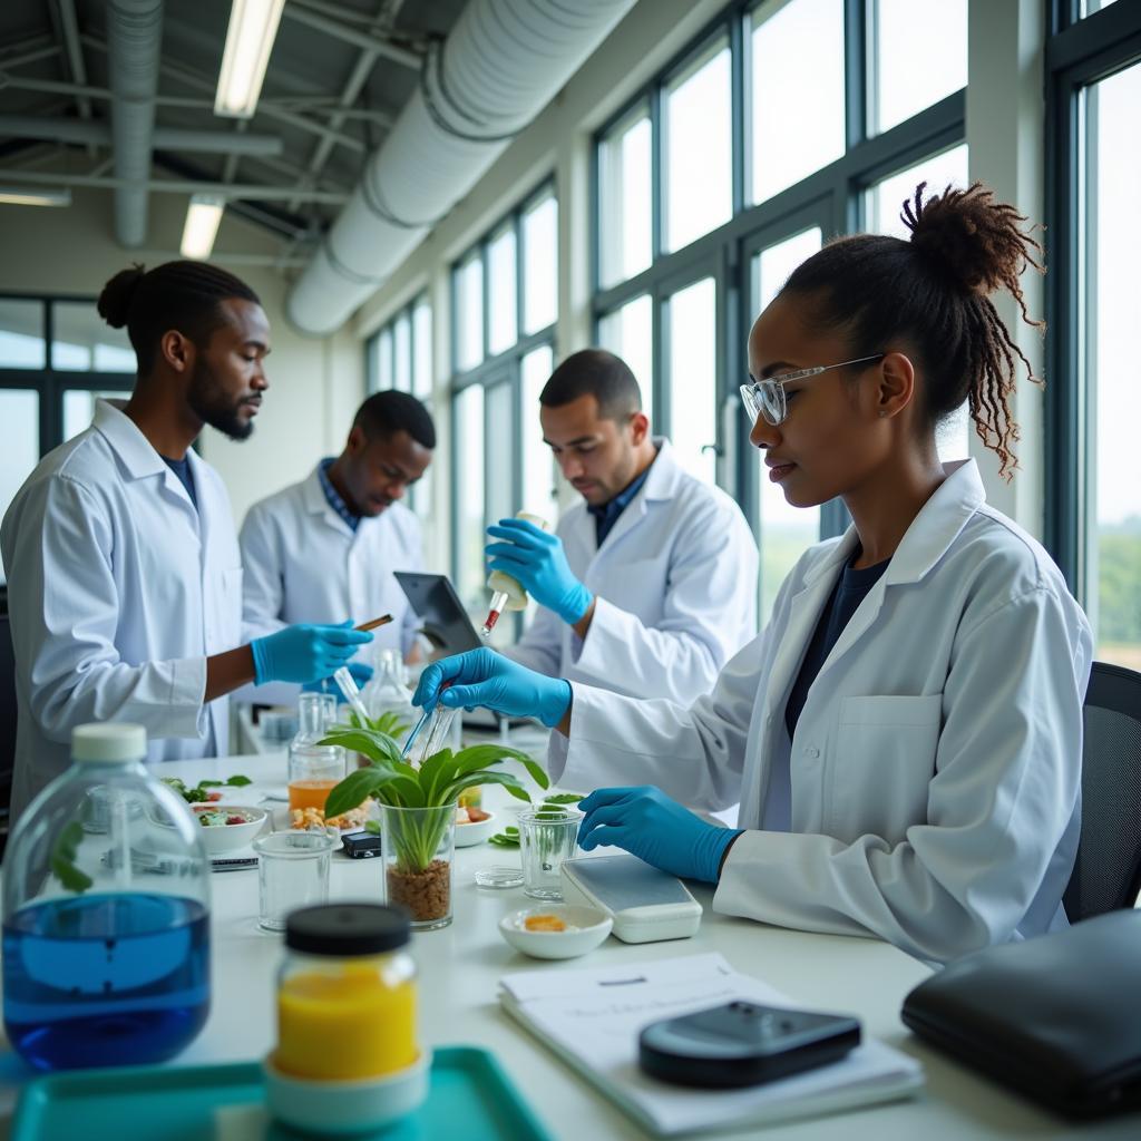
[[[440,686],[451,682],[440,694]],[[548,678],[489,649],[472,649],[432,662],[420,674],[413,705],[471,709],[485,705],[508,717],[537,717],[553,728],[570,707],[570,682]]]

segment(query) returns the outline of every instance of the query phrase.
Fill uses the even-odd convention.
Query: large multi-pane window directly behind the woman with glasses
[[[847,517],[790,509],[760,480],[737,395],[750,326],[824,240],[895,232],[917,181],[966,181],[968,0],[912,8],[737,0],[594,139],[596,339],[634,370],[681,463],[744,508],[764,616],[792,560]],[[958,418],[940,450],[965,446]]]

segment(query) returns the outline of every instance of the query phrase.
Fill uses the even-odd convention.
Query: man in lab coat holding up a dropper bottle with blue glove
[[[582,496],[553,534],[487,533],[494,569],[539,604],[509,657],[632,697],[695,701],[756,634],[756,543],[741,508],[650,436],[613,353],[567,357],[539,397],[543,439]]]

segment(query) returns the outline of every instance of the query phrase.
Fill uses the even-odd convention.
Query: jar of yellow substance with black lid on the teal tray
[[[269,1107],[323,1132],[334,1114],[377,1127],[427,1095],[429,1052],[416,1037],[408,920],[394,907],[327,904],[293,912],[277,974],[277,1049],[266,1061]]]

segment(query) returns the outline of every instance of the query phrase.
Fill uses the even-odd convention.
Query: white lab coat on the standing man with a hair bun
[[[118,403],[118,402],[116,402]],[[16,653],[13,815],[70,763],[71,731],[133,721],[149,761],[225,754],[228,702],[203,705],[205,659],[241,642],[229,499],[193,451],[197,510],[119,407],[46,455],[0,548]]]

